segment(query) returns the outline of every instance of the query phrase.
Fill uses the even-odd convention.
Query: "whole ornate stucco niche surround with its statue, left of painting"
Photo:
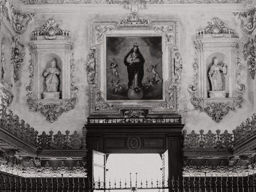
[[[27,102],[51,123],[77,103],[76,65],[70,34],[70,31],[60,29],[51,18],[32,32],[33,40],[29,42],[32,60],[30,84],[26,87]]]

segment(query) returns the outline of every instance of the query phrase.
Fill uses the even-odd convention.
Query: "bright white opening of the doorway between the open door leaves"
[[[157,181],[162,182],[162,159],[159,154],[110,154],[106,170],[107,187],[115,187],[116,183],[116,188],[120,188],[120,185],[124,188],[126,183],[126,187],[136,187],[137,184],[140,188],[141,183],[143,187],[146,184],[151,187],[151,182],[154,186]]]

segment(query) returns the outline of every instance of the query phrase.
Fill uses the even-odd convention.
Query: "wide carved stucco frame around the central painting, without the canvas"
[[[142,102],[129,102],[130,100],[107,100],[106,99],[106,76],[102,58],[104,58],[105,37],[111,34],[122,34],[125,30],[136,32],[132,36],[141,36],[139,30],[145,34],[161,36],[163,38],[163,54],[166,55],[166,63],[163,71],[168,72],[163,80],[164,94],[161,101],[143,100]],[[154,34],[155,33],[155,34]],[[179,87],[181,80],[182,59],[178,50],[178,20],[176,19],[145,19],[132,13],[124,19],[115,20],[91,20],[90,21],[90,54],[88,54],[86,68],[87,79],[90,87],[90,115],[114,115],[120,116],[121,110],[148,110],[149,115],[176,114],[179,113]],[[152,104],[153,102],[153,104]],[[155,103],[155,104],[154,104]],[[154,106],[154,107],[152,107]]]

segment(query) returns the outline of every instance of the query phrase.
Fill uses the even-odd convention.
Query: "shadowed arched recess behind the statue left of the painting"
[[[50,66],[51,64],[51,60],[52,58],[55,58],[56,60],[56,68],[58,68],[61,73],[60,75],[57,75],[58,80],[59,80],[59,85],[58,85],[58,92],[60,92],[60,99],[62,98],[62,85],[63,85],[63,78],[62,78],[62,60],[60,58],[60,56],[58,56],[57,54],[54,53],[49,53],[46,54],[45,56],[43,56],[42,60],[41,60],[41,64],[40,64],[40,72],[41,72],[41,76],[40,76],[40,92],[44,92],[44,90],[46,89],[46,84],[45,84],[45,80],[46,77],[43,76],[44,71],[46,70],[46,68],[48,68],[48,66]],[[43,99],[43,96],[41,96],[41,98]]]

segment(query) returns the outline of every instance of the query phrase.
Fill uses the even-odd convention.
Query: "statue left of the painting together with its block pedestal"
[[[60,93],[58,92],[58,84],[60,81],[57,75],[60,75],[60,70],[56,68],[56,58],[52,58],[50,66],[46,68],[43,74],[43,76],[46,77],[46,89],[43,92],[44,99],[60,97]]]

